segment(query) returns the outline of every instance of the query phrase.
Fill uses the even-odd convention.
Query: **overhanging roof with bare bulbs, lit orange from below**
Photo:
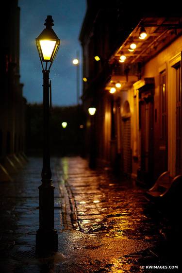
[[[142,25],[148,34],[144,40],[138,38]],[[119,61],[121,53],[124,53],[127,64],[145,63],[181,34],[182,17],[143,17],[109,61]],[[137,45],[133,52],[128,50],[131,42]]]

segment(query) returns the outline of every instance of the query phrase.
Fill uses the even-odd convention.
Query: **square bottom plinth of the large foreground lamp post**
[[[37,230],[36,233],[36,254],[39,256],[49,255],[58,251],[58,234],[57,230],[51,231]]]

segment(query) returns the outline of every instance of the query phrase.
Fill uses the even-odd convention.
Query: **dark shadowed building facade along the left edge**
[[[9,180],[11,172],[24,162],[25,106],[23,84],[19,78],[19,16],[17,0],[4,3],[6,23],[0,53],[0,180]],[[1,18],[4,20],[4,18]]]

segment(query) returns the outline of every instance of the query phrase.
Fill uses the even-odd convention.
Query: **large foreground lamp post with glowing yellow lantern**
[[[57,251],[58,235],[54,229],[54,186],[52,185],[50,170],[50,143],[49,143],[49,119],[50,119],[50,67],[59,49],[60,40],[52,29],[53,20],[50,15],[44,24],[46,28],[36,38],[36,46],[39,53],[43,72],[43,168],[42,184],[39,188],[39,229],[36,232],[36,251],[44,253]],[[48,67],[49,66],[49,67]]]

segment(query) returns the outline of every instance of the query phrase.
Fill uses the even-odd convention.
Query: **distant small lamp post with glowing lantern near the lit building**
[[[91,132],[90,132],[90,154],[89,154],[89,167],[94,169],[96,167],[96,124],[95,124],[95,105],[91,105],[88,108],[88,113],[91,120]]]

